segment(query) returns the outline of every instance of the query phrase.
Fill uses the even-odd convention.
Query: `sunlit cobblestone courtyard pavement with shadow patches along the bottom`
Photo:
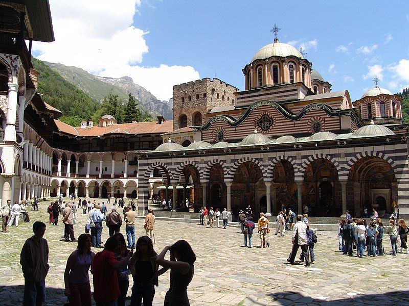
[[[84,232],[85,226],[85,215],[79,212],[74,225],[76,237]],[[1,305],[21,304],[24,279],[19,265],[20,250],[32,235],[33,221],[48,221],[46,203],[40,203],[38,212],[29,213],[31,223],[20,223],[17,228],[12,226],[10,233],[0,235]],[[124,225],[121,232],[125,235]],[[137,220],[135,232],[137,238],[144,234],[143,219]],[[179,222],[158,220],[155,223],[157,252],[179,239],[189,241],[196,252],[195,274],[188,292],[192,305],[409,304],[409,291],[405,291],[405,264],[409,255],[391,256],[389,237],[384,240],[387,256],[359,259],[336,251],[336,232],[318,232],[316,262],[305,267],[286,262],[291,245],[289,234],[284,237],[270,234],[269,248],[244,248],[243,235],[239,232],[236,226],[224,230]],[[44,236],[50,246],[47,305],[62,305],[66,301],[63,272],[76,243],[60,241],[62,233],[62,222],[58,226],[48,224]],[[107,238],[105,226],[102,240]],[[259,245],[257,234],[253,235],[253,245]],[[92,276],[90,279],[92,281]],[[155,305],[163,304],[168,286],[169,272],[160,277]],[[129,288],[128,295],[130,293]]]

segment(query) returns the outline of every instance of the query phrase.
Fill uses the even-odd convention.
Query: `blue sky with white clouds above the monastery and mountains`
[[[374,87],[409,87],[407,1],[50,0],[55,41],[40,60],[124,75],[161,100],[173,85],[218,78],[244,89],[242,69],[281,28],[289,43],[354,101]]]

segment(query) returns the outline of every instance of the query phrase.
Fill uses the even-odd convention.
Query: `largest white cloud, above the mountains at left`
[[[34,43],[33,54],[94,74],[129,75],[158,99],[168,100],[174,84],[196,80],[199,73],[190,66],[143,66],[149,32],[131,25],[140,5],[141,0],[121,0],[115,6],[111,0],[50,0],[55,41]],[[156,84],[151,82],[155,79]]]

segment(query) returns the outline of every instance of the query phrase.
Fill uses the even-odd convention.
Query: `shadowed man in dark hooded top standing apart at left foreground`
[[[41,305],[46,301],[46,276],[48,264],[48,243],[42,238],[46,233],[46,223],[33,224],[34,236],[24,243],[20,253],[20,264],[24,275],[23,305]]]

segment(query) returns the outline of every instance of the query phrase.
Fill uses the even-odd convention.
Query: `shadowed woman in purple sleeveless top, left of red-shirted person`
[[[67,260],[64,272],[64,294],[70,305],[91,306],[91,286],[89,285],[89,267],[94,258],[91,251],[92,238],[89,234],[78,237],[77,249]]]

